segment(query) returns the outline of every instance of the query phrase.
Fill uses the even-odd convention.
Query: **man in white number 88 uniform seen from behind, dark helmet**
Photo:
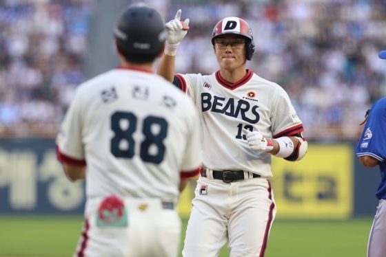
[[[72,181],[85,179],[85,227],[74,256],[178,256],[176,210],[199,174],[194,104],[152,65],[163,52],[164,21],[132,5],[114,28],[121,66],[77,88],[57,157]]]

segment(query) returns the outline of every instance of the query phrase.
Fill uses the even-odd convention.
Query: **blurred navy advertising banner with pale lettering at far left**
[[[54,140],[0,141],[0,214],[82,214],[84,183],[70,182]]]

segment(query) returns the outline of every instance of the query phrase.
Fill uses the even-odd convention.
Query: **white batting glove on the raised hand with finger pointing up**
[[[186,36],[187,30],[189,30],[189,19],[181,21],[181,12],[181,9],[178,10],[174,20],[165,24],[165,30],[167,33],[165,54],[170,56],[176,55],[180,42]]]

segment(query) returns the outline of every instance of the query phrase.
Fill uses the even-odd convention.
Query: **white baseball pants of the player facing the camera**
[[[262,257],[276,205],[264,178],[225,183],[200,177],[187,225],[184,257],[219,256],[229,241],[230,257]]]

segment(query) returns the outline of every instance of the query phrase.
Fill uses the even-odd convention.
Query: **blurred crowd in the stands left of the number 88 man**
[[[0,135],[52,137],[83,81],[92,0],[0,3]]]

